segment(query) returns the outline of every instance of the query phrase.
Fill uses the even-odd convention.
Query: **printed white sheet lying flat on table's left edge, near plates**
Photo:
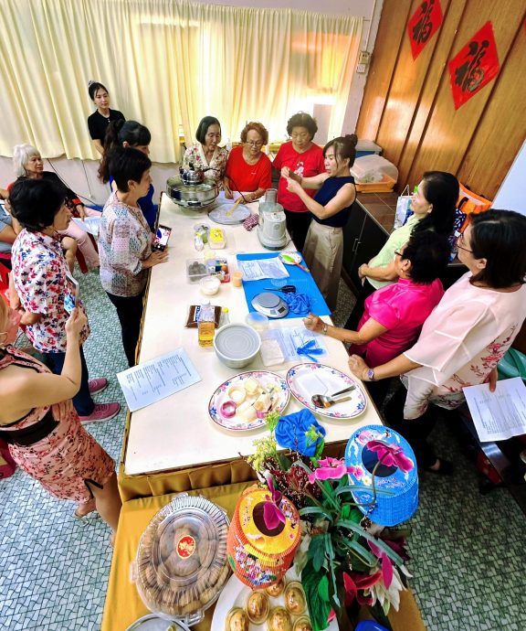
[[[184,348],[117,373],[130,412],[161,401],[201,380]]]

